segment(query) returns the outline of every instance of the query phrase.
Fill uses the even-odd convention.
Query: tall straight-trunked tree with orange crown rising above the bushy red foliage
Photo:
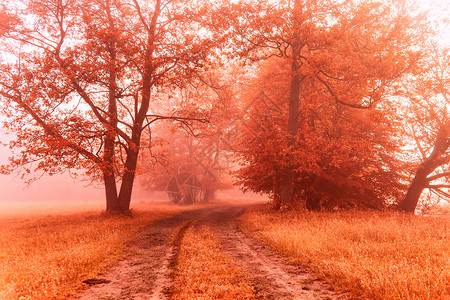
[[[392,94],[393,83],[414,70],[427,26],[405,3],[258,1],[236,22],[247,57],[278,56],[290,66],[284,87],[290,91],[289,117],[281,134],[289,142],[280,149],[283,179],[274,188],[280,204],[294,202],[295,181],[304,176],[292,153],[308,144],[308,131],[320,119],[314,101],[334,103],[336,111],[371,111]]]

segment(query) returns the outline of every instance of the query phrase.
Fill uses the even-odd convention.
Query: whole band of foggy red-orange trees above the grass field
[[[1,172],[117,212],[135,186],[426,212],[450,198],[445,26],[408,0],[4,0]]]

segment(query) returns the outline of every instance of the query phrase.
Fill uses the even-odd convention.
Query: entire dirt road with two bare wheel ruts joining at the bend
[[[214,230],[223,251],[246,272],[261,298],[344,299],[329,285],[301,267],[286,265],[282,257],[242,233],[235,218],[246,207],[224,204],[199,208],[145,228],[127,246],[132,255],[99,276],[108,283],[91,286],[80,299],[169,299],[178,245],[189,226],[200,225]]]

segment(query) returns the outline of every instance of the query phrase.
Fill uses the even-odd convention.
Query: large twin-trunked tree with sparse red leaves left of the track
[[[178,119],[157,115],[152,101],[183,88],[217,53],[216,6],[6,0],[1,8],[1,109],[20,151],[4,171],[87,170],[103,181],[107,210],[127,211],[143,131]]]

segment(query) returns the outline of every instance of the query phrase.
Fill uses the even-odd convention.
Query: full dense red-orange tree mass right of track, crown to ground
[[[380,1],[262,3],[271,27],[249,20],[249,51],[281,59],[263,65],[248,96],[259,101],[243,135],[241,184],[277,206],[395,202],[404,186],[390,98],[419,71],[425,20]]]

